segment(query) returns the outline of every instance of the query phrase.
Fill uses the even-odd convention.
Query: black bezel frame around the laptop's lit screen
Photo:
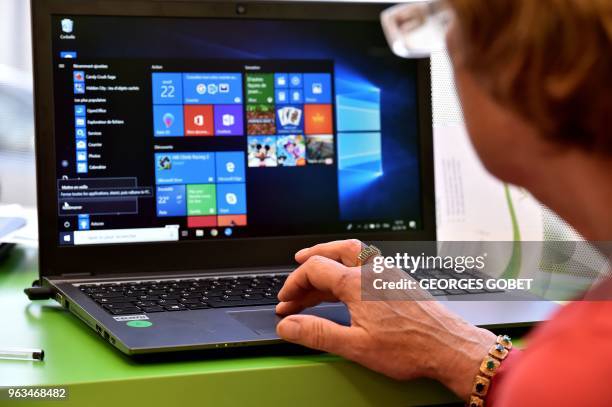
[[[246,13],[237,11],[238,5]],[[180,241],[109,246],[59,246],[54,140],[52,15],[191,17],[285,20],[378,21],[389,3],[260,2],[204,0],[32,0],[34,108],[40,276],[206,271],[294,264],[294,253],[322,241],[435,241],[434,162],[429,59],[417,60],[418,131],[422,188],[422,229],[217,241]],[[46,198],[47,197],[47,198]],[[206,255],[209,254],[209,255]]]

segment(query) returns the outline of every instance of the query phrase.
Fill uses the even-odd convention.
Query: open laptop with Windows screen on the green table
[[[386,6],[33,0],[40,284],[129,355],[266,345],[299,249],[435,241],[430,64]],[[449,304],[549,311],[482,305]]]

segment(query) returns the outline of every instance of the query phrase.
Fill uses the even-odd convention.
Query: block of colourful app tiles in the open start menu
[[[155,153],[158,218],[186,217],[188,228],[247,226],[247,169],[334,165],[331,62],[316,72],[286,70],[294,61],[241,64],[152,73],[152,136],[156,150],[168,150]]]

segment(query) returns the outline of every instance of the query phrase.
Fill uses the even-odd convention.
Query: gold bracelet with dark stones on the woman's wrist
[[[474,378],[468,407],[484,406],[484,398],[489,392],[491,379],[495,376],[501,362],[506,359],[511,349],[512,340],[510,337],[508,335],[499,335],[495,344],[489,349],[489,354],[480,364],[480,372]]]

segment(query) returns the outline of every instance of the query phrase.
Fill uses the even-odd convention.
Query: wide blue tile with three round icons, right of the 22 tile
[[[184,102],[188,105],[242,104],[242,74],[184,73]]]

